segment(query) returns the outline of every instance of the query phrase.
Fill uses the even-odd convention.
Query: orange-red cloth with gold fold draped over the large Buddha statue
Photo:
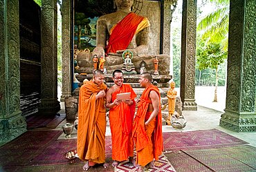
[[[148,26],[149,21],[147,18],[136,15],[134,12],[129,12],[116,26],[111,28],[106,54],[127,49],[134,35]]]

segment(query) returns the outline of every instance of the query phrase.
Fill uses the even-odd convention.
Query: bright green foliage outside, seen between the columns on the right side
[[[181,17],[182,1],[172,18],[173,69],[176,87],[180,86],[181,73]],[[209,10],[209,7],[211,10]],[[214,7],[214,8],[212,8]],[[226,82],[226,57],[228,47],[228,12],[227,0],[201,0],[197,2],[196,35],[196,76],[198,86],[224,86]],[[210,49],[210,50],[208,50]],[[199,64],[200,63],[200,64]],[[214,65],[215,64],[215,65]],[[217,66],[216,66],[217,64]],[[218,74],[216,75],[216,71]]]

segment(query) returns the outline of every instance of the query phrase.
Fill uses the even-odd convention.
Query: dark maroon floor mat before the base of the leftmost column
[[[62,131],[27,131],[0,147],[0,167],[29,164],[61,134]]]

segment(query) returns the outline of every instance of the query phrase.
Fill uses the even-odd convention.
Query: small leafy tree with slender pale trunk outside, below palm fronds
[[[221,49],[220,44],[206,43],[203,39],[199,39],[196,45],[196,68],[200,71],[211,68],[215,72],[215,90],[213,102],[217,101],[217,87],[219,83],[218,67],[223,64],[227,58],[227,53]],[[199,75],[201,76],[201,75]],[[200,79],[199,79],[200,83]]]

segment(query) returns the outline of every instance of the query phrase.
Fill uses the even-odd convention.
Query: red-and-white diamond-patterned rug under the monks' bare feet
[[[165,171],[165,172],[175,172],[174,167],[170,162],[167,160],[167,157],[165,155],[161,155],[159,157],[159,160],[154,163],[155,169],[147,169],[147,171],[155,172],[155,171]],[[118,172],[135,172],[136,167],[133,166],[130,162],[125,161],[118,164],[118,166],[115,167],[115,171]]]

